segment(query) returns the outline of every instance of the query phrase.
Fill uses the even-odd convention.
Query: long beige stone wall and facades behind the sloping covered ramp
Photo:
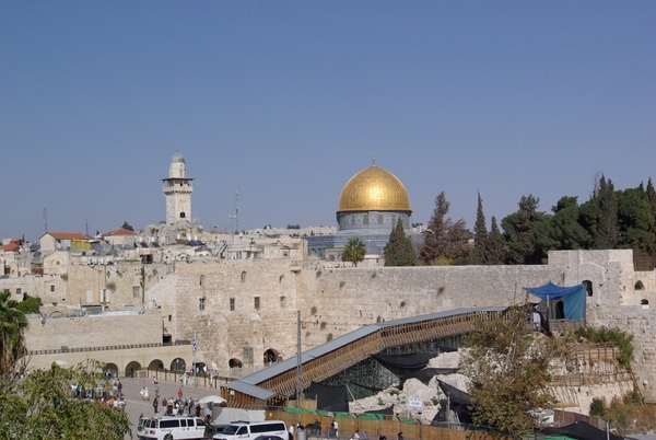
[[[265,258],[267,245],[260,246],[258,258],[247,259],[206,255],[188,260],[172,257],[173,263],[117,260],[92,267],[75,264],[73,258],[66,273],[3,279],[0,289],[28,290],[49,304],[46,310],[50,314],[63,303],[69,304],[65,312],[101,303],[107,310],[144,308],[153,314],[141,321],[139,335],[128,322],[141,315],[106,316],[106,339],[102,340],[93,339],[75,320],[61,321],[67,329],[55,333],[42,332],[38,324],[28,332],[30,349],[67,346],[71,338],[84,346],[112,340],[131,344],[144,335],[153,343],[162,343],[163,335],[173,343],[190,341],[196,334],[197,360],[224,369],[231,360],[255,367],[263,366],[272,354],[279,359],[293,356],[296,310],[301,311],[301,339],[306,349],[375,322],[459,308],[509,305],[525,300],[524,287],[587,281],[587,324],[617,326],[634,335],[634,370],[647,398],[656,401],[656,314],[652,305],[656,276],[634,271],[631,251],[551,252],[548,265],[536,266],[395,268],[295,259],[292,255],[298,254],[292,254],[290,246],[270,245],[271,259]],[[162,255],[169,251],[162,250]],[[636,290],[637,281],[642,288]],[[103,304],[99,292],[109,287],[114,290]],[[92,301],[87,301],[89,291]],[[190,364],[190,354],[185,361]]]

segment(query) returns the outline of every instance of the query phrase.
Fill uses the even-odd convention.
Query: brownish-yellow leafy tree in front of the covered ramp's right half
[[[537,420],[529,412],[551,408],[555,400],[544,387],[551,382],[549,362],[559,352],[557,343],[526,333],[526,311],[507,310],[503,316],[481,319],[466,337],[460,372],[470,380],[475,422],[519,436]]]

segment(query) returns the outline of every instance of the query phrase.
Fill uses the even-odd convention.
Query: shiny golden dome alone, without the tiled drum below
[[[372,165],[344,185],[337,212],[347,211],[411,211],[410,197],[397,176]]]

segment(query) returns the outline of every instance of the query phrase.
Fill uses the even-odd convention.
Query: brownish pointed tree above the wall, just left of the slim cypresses
[[[462,219],[454,222],[447,218],[449,206],[444,192],[440,193],[433,216],[423,232],[424,242],[419,247],[419,259],[424,265],[450,264],[471,252],[467,223]]]

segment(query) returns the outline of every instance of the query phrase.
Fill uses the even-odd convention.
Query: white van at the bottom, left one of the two
[[[139,420],[139,440],[202,439],[206,422],[199,417],[144,417]]]

